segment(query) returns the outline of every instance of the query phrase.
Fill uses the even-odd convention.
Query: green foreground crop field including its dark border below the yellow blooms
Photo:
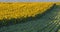
[[[60,5],[54,3],[35,17],[0,20],[0,32],[60,32]]]

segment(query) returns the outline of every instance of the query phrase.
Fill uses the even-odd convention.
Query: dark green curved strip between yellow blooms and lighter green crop
[[[17,19],[12,18],[10,20],[8,20],[8,19],[0,20],[0,26],[12,25],[12,24],[17,24],[17,23],[24,23],[24,22],[27,22],[27,21],[37,20],[37,19],[41,18],[41,16],[44,16],[45,13],[47,13],[51,9],[53,9],[53,7],[55,5],[56,4],[54,4],[52,7],[50,7],[50,9],[47,9],[44,13],[35,15],[35,17],[27,17],[27,18],[21,18],[21,19],[20,18],[17,18]]]

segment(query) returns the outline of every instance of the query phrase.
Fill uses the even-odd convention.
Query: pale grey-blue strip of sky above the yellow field
[[[60,0],[0,0],[0,2],[60,2]]]

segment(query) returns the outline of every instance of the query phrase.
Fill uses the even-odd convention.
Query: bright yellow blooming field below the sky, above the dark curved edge
[[[0,20],[35,17],[53,6],[54,3],[0,3]]]

